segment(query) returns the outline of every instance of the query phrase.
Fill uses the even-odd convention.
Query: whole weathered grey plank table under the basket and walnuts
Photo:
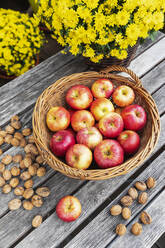
[[[34,188],[48,186],[51,194],[41,208],[33,208],[32,211],[23,208],[10,211],[8,202],[14,194],[0,192],[0,248],[149,248],[165,232],[165,36],[159,33],[154,42],[147,40],[140,46],[130,68],[153,96],[161,116],[160,139],[150,158],[129,174],[97,182],[71,179],[46,165],[46,175],[34,178]],[[0,126],[3,128],[12,115],[18,114],[23,127],[31,127],[33,107],[41,92],[60,77],[87,69],[80,58],[58,53],[1,87]],[[4,154],[23,152],[21,148],[10,145],[2,145],[2,149]],[[148,191],[147,204],[143,206],[134,201],[128,221],[121,216],[110,216],[110,207],[119,202],[128,188],[135,181],[149,176],[156,178],[157,186]],[[59,199],[68,194],[75,195],[82,203],[82,214],[72,223],[62,222],[55,212]],[[130,228],[142,210],[151,214],[153,222],[149,226],[143,225],[142,234],[135,237]],[[36,214],[41,214],[44,221],[34,229],[31,221]],[[123,237],[117,237],[114,232],[118,223],[127,225],[127,234]]]

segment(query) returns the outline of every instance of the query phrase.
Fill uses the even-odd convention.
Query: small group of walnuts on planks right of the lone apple
[[[156,181],[153,177],[149,177],[146,183],[137,181],[134,184],[135,187],[131,187],[128,190],[128,195],[125,195],[120,199],[120,203],[123,207],[120,206],[119,204],[111,207],[110,209],[111,215],[117,216],[121,214],[123,219],[128,220],[132,214],[131,209],[129,207],[132,205],[133,201],[137,199],[137,202],[139,204],[145,204],[148,200],[148,194],[145,191],[147,190],[147,188],[148,189],[154,188],[155,185],[156,185]],[[138,193],[138,190],[140,191],[140,193]],[[143,224],[151,224],[152,218],[146,211],[143,211],[140,214],[140,221]],[[119,236],[124,235],[126,231],[127,229],[124,224],[118,224],[116,226],[116,234],[118,234]],[[134,223],[132,225],[131,232],[134,235],[140,235],[142,232],[142,225],[138,222]]]

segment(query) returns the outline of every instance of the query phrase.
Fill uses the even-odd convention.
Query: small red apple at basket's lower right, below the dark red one
[[[135,153],[140,146],[139,135],[132,130],[125,130],[118,136],[117,140],[126,154]]]

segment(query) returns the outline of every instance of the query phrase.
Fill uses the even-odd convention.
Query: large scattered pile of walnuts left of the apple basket
[[[11,123],[5,127],[5,130],[0,129],[0,145],[4,143],[15,147],[22,147],[25,155],[16,154],[11,156],[7,154],[3,156],[3,151],[0,149],[2,159],[0,161],[0,187],[4,194],[14,190],[16,196],[8,203],[10,210],[16,210],[23,206],[26,210],[32,210],[33,207],[41,207],[43,198],[50,194],[47,187],[39,187],[35,191],[33,189],[33,176],[42,177],[46,174],[46,169],[43,164],[43,159],[39,155],[38,149],[35,146],[34,138],[30,128],[25,128],[22,131],[22,125],[18,116],[11,118]],[[10,169],[7,168],[8,165]],[[37,227],[42,222],[42,216],[34,218],[32,225]]]

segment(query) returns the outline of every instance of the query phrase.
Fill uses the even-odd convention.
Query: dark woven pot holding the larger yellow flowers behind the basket
[[[128,56],[125,59],[120,60],[120,59],[117,59],[116,57],[110,57],[107,59],[106,58],[102,59],[99,63],[94,63],[90,61],[89,59],[85,58],[85,63],[89,65],[90,68],[93,68],[96,71],[100,71],[112,65],[120,65],[120,66],[128,67],[132,59],[135,57],[138,45],[139,43],[137,42],[135,46],[128,48]]]

